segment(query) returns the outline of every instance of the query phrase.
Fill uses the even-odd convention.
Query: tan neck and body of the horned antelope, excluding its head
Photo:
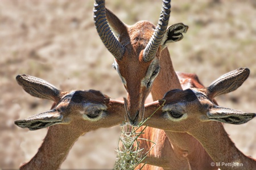
[[[151,90],[154,100],[162,99],[163,95],[166,94],[167,91],[181,89],[181,86],[187,86],[187,84],[183,83],[185,79],[189,79],[189,82],[195,82],[194,84],[197,84],[199,88],[203,87],[200,82],[197,82],[195,76],[189,76],[192,74],[184,74],[185,79],[179,80],[173,67],[171,67],[172,64],[170,56],[163,54],[169,54],[168,50],[163,50],[162,52],[160,58],[160,66],[162,69],[156,77]],[[180,83],[182,84],[180,85]],[[154,110],[151,111],[151,113],[153,112]],[[221,123],[214,122],[214,124]],[[155,149],[149,153],[148,158],[145,160],[148,164],[158,165],[160,167],[164,167],[164,169],[218,169],[216,166],[212,167],[210,165],[213,160],[204,150],[199,141],[188,133],[164,131],[154,128],[147,128],[145,130],[145,134],[142,134],[142,138],[148,138],[157,143]],[[164,137],[158,137],[157,135],[152,134],[163,134]],[[168,142],[170,143],[167,144]],[[151,146],[145,147],[149,149]],[[168,162],[166,162],[166,160]]]

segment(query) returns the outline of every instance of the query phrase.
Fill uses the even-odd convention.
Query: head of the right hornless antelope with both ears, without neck
[[[162,100],[146,106],[145,114],[150,116],[156,106],[163,105],[147,124],[154,128],[187,133],[200,130],[200,125],[208,121],[244,124],[256,114],[220,107],[212,100],[218,95],[236,90],[247,79],[249,73],[249,69],[241,68],[222,75],[207,88],[171,90]]]

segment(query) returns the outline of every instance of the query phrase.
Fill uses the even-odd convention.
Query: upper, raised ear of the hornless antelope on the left
[[[16,76],[16,81],[30,95],[42,99],[49,99],[58,103],[61,99],[61,91],[52,84],[34,76],[22,74]]]

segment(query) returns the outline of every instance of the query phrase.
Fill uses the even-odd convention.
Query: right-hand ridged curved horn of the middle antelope
[[[164,33],[166,33],[166,29],[168,26],[169,18],[171,13],[171,0],[163,0],[162,12],[159,18],[159,22],[157,27],[155,28],[155,32],[148,41],[148,44],[143,52],[143,59],[145,62],[151,61],[158,50],[158,47],[163,40]]]

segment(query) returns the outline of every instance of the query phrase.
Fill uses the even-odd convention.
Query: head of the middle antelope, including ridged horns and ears
[[[105,1],[94,3],[94,23],[102,42],[115,57],[113,67],[127,91],[126,116],[132,125],[138,125],[143,118],[144,101],[160,71],[162,50],[168,43],[183,39],[188,29],[182,23],[167,27],[170,8],[170,1],[163,1],[157,26],[147,21],[130,26],[105,8]]]

